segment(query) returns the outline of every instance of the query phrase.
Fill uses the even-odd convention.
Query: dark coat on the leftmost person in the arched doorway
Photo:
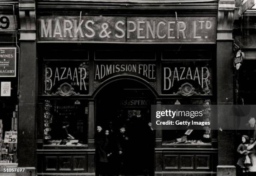
[[[95,134],[95,148],[96,157],[100,162],[108,162],[108,157],[106,153],[106,148],[108,146],[108,138],[103,131],[96,132]]]

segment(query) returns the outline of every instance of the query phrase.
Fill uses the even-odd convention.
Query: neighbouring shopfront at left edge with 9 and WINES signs
[[[3,174],[4,167],[18,167],[19,36],[17,4],[0,5],[0,9],[0,174]]]

